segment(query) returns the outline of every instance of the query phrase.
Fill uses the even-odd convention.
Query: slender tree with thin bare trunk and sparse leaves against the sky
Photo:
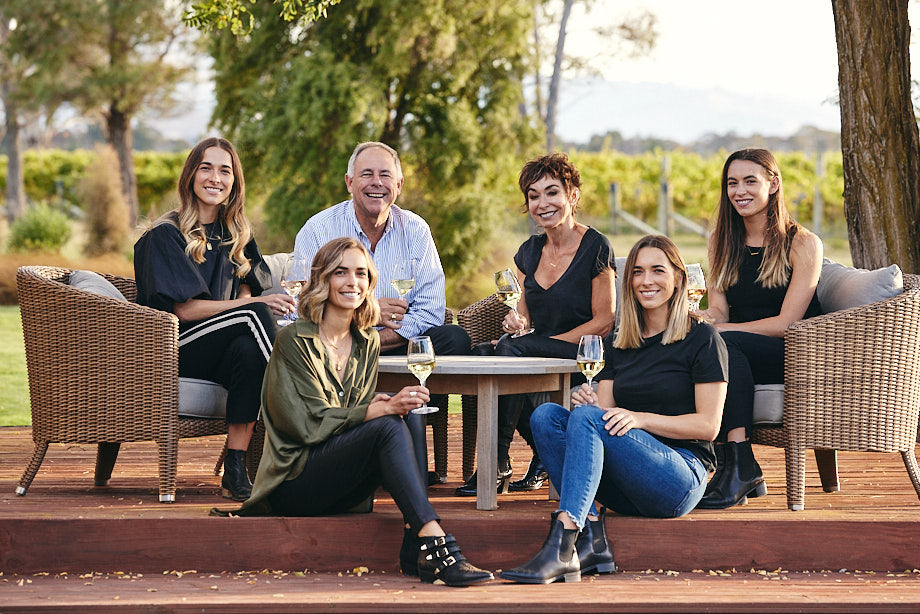
[[[556,148],[556,116],[559,106],[559,92],[562,87],[562,79],[566,73],[591,71],[591,64],[595,58],[566,54],[565,42],[568,35],[569,17],[575,6],[575,0],[562,0],[560,3],[556,0],[533,0],[534,3],[534,53],[536,56],[536,75],[535,75],[535,103],[537,113],[543,118],[546,129],[546,150],[553,151]],[[581,0],[581,3],[590,13],[593,0]],[[629,16],[622,21],[613,25],[599,25],[591,29],[591,34],[598,41],[598,48],[603,51],[605,57],[609,58],[618,52],[626,51],[630,56],[638,56],[648,53],[655,46],[658,38],[656,30],[656,18],[648,11],[638,15]],[[558,26],[557,26],[558,24]],[[546,92],[543,91],[543,78],[541,71],[544,70],[543,58],[544,43],[546,39],[544,32],[554,29],[555,49],[552,54],[552,70],[549,77],[549,85]],[[619,43],[620,48],[613,45]],[[600,55],[600,53],[596,54]],[[596,70],[593,72],[597,72]],[[544,104],[545,101],[545,104]]]

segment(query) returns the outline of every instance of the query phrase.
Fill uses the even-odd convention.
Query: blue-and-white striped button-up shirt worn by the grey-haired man
[[[294,241],[295,262],[303,259],[312,263],[320,247],[339,237],[354,237],[371,252],[380,273],[374,292],[377,298],[398,298],[396,290],[390,285],[390,273],[399,260],[408,258],[415,261],[415,286],[405,297],[409,310],[402,326],[396,330],[400,336],[410,339],[444,323],[447,304],[444,298],[444,269],[425,220],[411,211],[391,205],[383,236],[377,242],[376,250],[371,251],[370,239],[358,223],[354,205],[351,200],[346,200],[307,220]]]

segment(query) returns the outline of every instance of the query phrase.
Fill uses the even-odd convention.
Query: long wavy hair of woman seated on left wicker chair
[[[236,265],[237,277],[245,277],[252,269],[249,259],[243,254],[246,245],[252,240],[252,227],[243,213],[243,204],[246,202],[246,181],[243,178],[243,167],[233,144],[219,137],[204,139],[192,148],[185,166],[179,175],[179,209],[167,213],[160,221],[175,224],[179,232],[185,237],[185,253],[198,264],[204,262],[205,250],[208,246],[207,232],[198,221],[198,198],[195,196],[194,183],[198,165],[204,158],[204,152],[211,147],[219,147],[230,154],[233,170],[233,186],[230,196],[220,206],[217,219],[229,231],[229,237],[222,237],[221,245],[230,246],[230,262]],[[173,216],[178,216],[177,220]],[[223,235],[223,233],[221,233]]]

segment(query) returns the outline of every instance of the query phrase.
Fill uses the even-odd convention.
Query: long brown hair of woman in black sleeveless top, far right
[[[776,158],[766,149],[741,149],[734,152],[722,167],[722,195],[719,198],[719,210],[716,214],[716,227],[713,233],[712,250],[709,260],[709,285],[724,292],[738,281],[741,264],[745,256],[744,219],[735,211],[728,197],[728,167],[735,160],[746,160],[760,165],[770,180],[779,184],[776,192],[767,200],[767,224],[764,229],[763,262],[757,281],[764,288],[776,288],[789,283],[792,264],[789,261],[789,249],[792,239],[801,226],[789,215],[786,199],[783,196],[783,177],[779,172]]]

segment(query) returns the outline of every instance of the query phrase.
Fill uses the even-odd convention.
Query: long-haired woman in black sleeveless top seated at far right
[[[719,467],[697,507],[721,509],[766,494],[750,442],[754,384],[783,383],[786,327],[821,312],[815,288],[823,256],[821,239],[789,216],[773,155],[765,149],[731,154],[709,240],[704,314],[728,348],[728,397]]]

